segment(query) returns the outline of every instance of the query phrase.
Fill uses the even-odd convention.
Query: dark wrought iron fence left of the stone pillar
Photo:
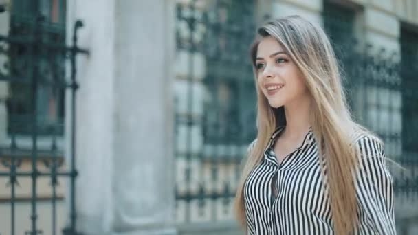
[[[69,203],[69,223],[63,229],[64,234],[77,234],[75,209],[75,182],[77,177],[75,158],[75,117],[76,117],[76,57],[87,54],[87,50],[77,45],[77,35],[81,21],[77,21],[72,31],[72,45],[65,45],[65,27],[52,23],[40,13],[31,17],[10,16],[9,35],[0,35],[0,81],[8,87],[6,98],[8,118],[6,133],[1,133],[0,179],[5,179],[10,192],[4,194],[2,201],[10,205],[10,231],[17,234],[21,226],[17,218],[17,205],[21,201],[30,202],[31,227],[25,228],[25,234],[44,234],[39,226],[39,203],[50,202],[51,231],[58,232],[57,203],[64,195],[57,192],[63,181],[69,183],[65,199]],[[65,73],[66,61],[69,61],[68,73]],[[67,78],[65,75],[69,76]],[[47,90],[56,102],[47,103],[54,111],[45,119],[40,109],[43,101],[41,90]],[[70,143],[70,153],[66,159],[60,139],[63,139],[64,117],[57,107],[63,109],[64,94],[68,93],[70,112],[65,118],[71,123],[66,139]],[[61,114],[60,114],[61,113]],[[60,116],[61,115],[61,116]],[[2,117],[3,118],[3,117]],[[42,142],[42,143],[41,143]],[[44,145],[46,143],[46,145]],[[62,144],[62,143],[61,143]],[[44,146],[43,146],[44,145]],[[23,165],[28,165],[28,168]],[[25,166],[26,166],[25,165]],[[50,193],[46,198],[39,195],[39,181],[50,180]],[[19,181],[30,182],[28,195],[17,194]],[[3,187],[3,186],[1,186]],[[3,195],[3,196],[4,196]]]

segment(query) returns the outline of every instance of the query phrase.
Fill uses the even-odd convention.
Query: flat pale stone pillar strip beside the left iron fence
[[[81,55],[77,58],[76,79],[80,84],[76,95],[75,127],[76,167],[79,172],[76,180],[77,230],[84,234],[111,234],[115,120],[115,0],[67,1],[68,44],[72,42],[74,22],[77,19],[85,23],[85,27],[80,30],[79,45],[90,51],[89,56]],[[69,122],[72,113],[69,92],[65,100],[65,157],[69,168]],[[66,199],[69,199],[69,192]]]

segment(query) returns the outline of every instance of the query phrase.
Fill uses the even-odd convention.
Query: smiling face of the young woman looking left
[[[255,64],[259,89],[270,106],[278,108],[308,97],[302,72],[272,36],[259,43]]]

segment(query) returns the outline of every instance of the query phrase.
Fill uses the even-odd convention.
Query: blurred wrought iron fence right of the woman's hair
[[[418,70],[399,61],[397,54],[376,51],[367,45],[362,52],[339,54],[347,73],[348,98],[358,121],[383,139],[386,155],[406,168],[392,168],[395,191],[416,196],[418,128],[411,114],[418,111],[413,92],[418,84],[415,74],[410,73]]]

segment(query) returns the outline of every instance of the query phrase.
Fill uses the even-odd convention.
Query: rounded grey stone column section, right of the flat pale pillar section
[[[114,229],[174,234],[174,1],[115,3]]]

